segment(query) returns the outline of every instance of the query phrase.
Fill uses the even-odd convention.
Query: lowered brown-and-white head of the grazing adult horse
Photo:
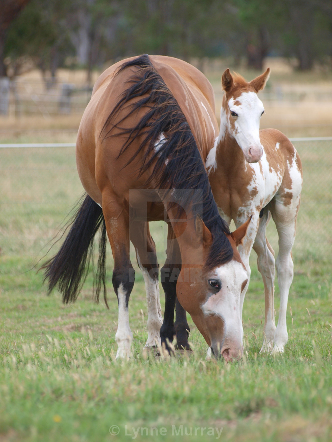
[[[212,353],[226,361],[239,359],[243,354],[240,295],[247,284],[247,272],[236,247],[242,242],[249,222],[250,219],[227,235],[233,256],[225,263],[208,263],[212,235],[199,216],[195,226],[187,227],[192,230],[190,255],[181,251],[182,263],[192,264],[182,265],[176,288],[178,300]]]

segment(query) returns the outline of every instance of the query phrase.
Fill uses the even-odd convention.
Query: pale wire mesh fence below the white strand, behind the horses
[[[304,173],[294,261],[303,266],[310,262],[330,265],[332,137],[294,138],[292,141],[300,154]],[[73,146],[72,143],[49,143],[24,145],[24,149],[19,149],[18,145],[0,145],[2,254],[39,256],[57,232],[64,215],[83,192]],[[153,227],[154,223],[151,224],[157,248],[163,250],[163,238],[159,238],[158,233],[160,224],[159,230]],[[278,251],[273,222],[267,236]],[[159,256],[162,260],[162,255]]]

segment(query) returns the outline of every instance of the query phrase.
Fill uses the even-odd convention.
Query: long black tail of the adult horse
[[[83,198],[84,195],[81,199]],[[49,293],[57,286],[62,293],[63,302],[68,304],[76,300],[89,271],[94,237],[101,227],[94,297],[98,302],[101,286],[103,286],[104,300],[108,307],[105,283],[106,225],[103,211],[89,195],[86,195],[69,221],[69,225],[71,225],[69,233],[60,250],[41,267],[45,269],[44,282],[48,280]]]

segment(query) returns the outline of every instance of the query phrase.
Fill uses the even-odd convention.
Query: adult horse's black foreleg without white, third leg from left
[[[160,329],[160,338],[161,342],[165,344],[165,347],[170,350],[167,345],[167,340],[169,340],[170,343],[173,342],[174,336],[176,335],[174,327],[174,308],[177,298],[176,283],[181,271],[181,253],[170,223],[168,224],[166,254],[165,264],[160,270],[162,288],[165,292],[165,312],[164,321]]]

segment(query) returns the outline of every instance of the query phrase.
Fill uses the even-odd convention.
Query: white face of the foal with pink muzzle
[[[242,92],[226,103],[228,131],[235,138],[248,163],[257,163],[263,155],[263,146],[259,139],[259,121],[264,113],[264,106],[256,92]],[[222,110],[223,111],[223,110]]]

